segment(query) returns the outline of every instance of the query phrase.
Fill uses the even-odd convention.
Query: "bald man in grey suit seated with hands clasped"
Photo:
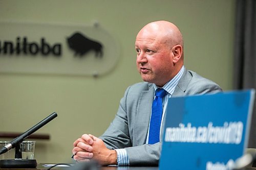
[[[161,20],[144,26],[136,37],[135,50],[137,69],[144,82],[126,89],[113,122],[102,136],[83,134],[74,142],[75,160],[95,159],[101,165],[158,165],[168,99],[221,91],[216,83],[185,68],[183,38],[171,22]],[[159,139],[152,143],[152,104],[158,89],[166,94]]]

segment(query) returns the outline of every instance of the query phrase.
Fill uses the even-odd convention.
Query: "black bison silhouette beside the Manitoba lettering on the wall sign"
[[[75,51],[74,56],[82,57],[87,52],[95,51],[95,57],[102,57],[102,44],[100,42],[91,40],[81,33],[74,33],[71,37],[68,37],[69,47]]]

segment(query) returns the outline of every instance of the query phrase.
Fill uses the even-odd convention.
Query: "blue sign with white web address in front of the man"
[[[247,148],[254,94],[170,98],[159,169],[230,169]]]

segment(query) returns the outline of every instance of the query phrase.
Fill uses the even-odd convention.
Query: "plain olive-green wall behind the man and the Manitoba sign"
[[[99,78],[0,73],[0,131],[23,132],[56,111],[58,117],[37,133],[37,162],[69,162],[75,139],[101,135],[109,126],[127,86],[140,82],[135,37],[148,22],[168,20],[183,33],[185,66],[232,89],[233,0],[10,1],[0,0],[0,21],[88,24],[95,20],[120,44],[120,59]]]

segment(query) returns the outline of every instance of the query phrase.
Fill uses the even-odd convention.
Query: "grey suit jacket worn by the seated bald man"
[[[173,96],[219,91],[222,90],[216,83],[185,69]],[[147,82],[128,87],[113,122],[100,136],[109,149],[125,148],[131,166],[158,165],[162,139],[155,144],[145,144],[154,92],[153,84]]]

